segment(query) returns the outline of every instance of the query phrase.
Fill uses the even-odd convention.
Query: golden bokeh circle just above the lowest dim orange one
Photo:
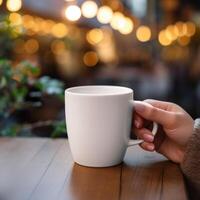
[[[103,37],[103,31],[97,28],[90,30],[86,35],[87,41],[92,45],[101,42],[103,40]]]

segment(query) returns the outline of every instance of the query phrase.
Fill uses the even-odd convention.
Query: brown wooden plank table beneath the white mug
[[[179,167],[131,147],[110,168],[74,164],[66,139],[0,138],[0,200],[185,200]]]

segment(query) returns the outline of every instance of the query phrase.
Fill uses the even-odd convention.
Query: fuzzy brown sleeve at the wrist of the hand
[[[181,164],[191,199],[200,199],[200,119],[195,120],[194,133],[188,142]]]

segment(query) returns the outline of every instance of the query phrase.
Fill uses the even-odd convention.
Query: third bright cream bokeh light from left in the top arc
[[[113,11],[108,6],[102,6],[99,8],[97,13],[97,19],[102,24],[108,24],[111,22]]]

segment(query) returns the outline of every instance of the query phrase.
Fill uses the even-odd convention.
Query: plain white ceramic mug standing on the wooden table
[[[69,145],[76,163],[108,167],[123,161],[130,140],[133,90],[118,86],[80,86],[65,90]],[[157,132],[153,123],[153,135]]]

